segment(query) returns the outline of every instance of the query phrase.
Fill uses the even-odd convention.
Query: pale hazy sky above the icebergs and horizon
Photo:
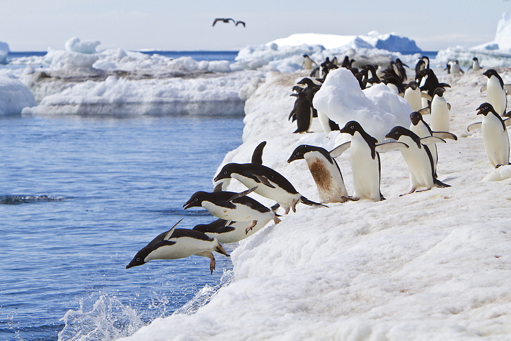
[[[125,50],[239,50],[293,33],[361,35],[377,30],[424,51],[493,40],[511,2],[365,0],[1,0],[0,41],[11,51],[62,49],[71,37]],[[215,18],[246,22],[246,28]]]

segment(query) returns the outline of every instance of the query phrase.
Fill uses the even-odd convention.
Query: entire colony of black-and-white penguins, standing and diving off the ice
[[[215,19],[229,22],[233,19]],[[234,22],[234,20],[233,20]],[[351,135],[351,141],[345,142],[332,151],[313,146],[298,145],[287,162],[305,160],[316,183],[320,203],[304,197],[294,185],[274,169],[263,165],[263,150],[266,141],[261,142],[253,151],[248,163],[228,163],[222,167],[214,178],[215,188],[212,192],[197,191],[184,203],[183,208],[202,207],[217,219],[207,224],[200,224],[193,229],[178,229],[176,223],[170,230],[156,236],[147,246],[136,253],[126,266],[142,265],[153,259],[177,259],[198,255],[210,259],[210,271],[215,269],[213,252],[229,256],[221,243],[240,241],[264,228],[273,221],[276,225],[290,211],[296,212],[297,205],[328,207],[327,203],[344,203],[346,201],[385,200],[380,191],[381,165],[380,153],[399,150],[409,169],[410,189],[404,196],[415,191],[430,190],[433,187],[450,187],[438,179],[437,143],[457,140],[449,132],[450,104],[444,98],[449,84],[440,83],[429,68],[429,59],[422,57],[415,65],[415,77],[408,81],[405,67],[401,60],[391,61],[386,68],[379,65],[355,66],[355,60],[345,56],[342,62],[334,57],[326,58],[321,64],[304,55],[303,67],[310,71],[310,77],[303,78],[292,87],[291,96],[296,101],[288,119],[296,121],[297,129],[293,133],[309,133],[312,120],[317,117],[324,133],[339,131]],[[313,68],[313,65],[316,65]],[[365,132],[357,121],[349,121],[340,128],[327,115],[318,112],[312,104],[314,94],[321,88],[329,71],[339,67],[349,69],[358,80],[361,89],[383,83],[408,101],[413,112],[410,113],[410,126],[397,126],[386,134],[386,141],[380,143]],[[409,67],[408,67],[409,68]],[[473,72],[481,67],[476,57],[469,69]],[[459,62],[449,62],[446,68],[450,74],[460,75],[463,70]],[[470,125],[468,131],[480,129],[483,144],[490,164],[498,168],[509,165],[509,139],[507,126],[511,125],[511,111],[506,113],[507,92],[511,85],[504,84],[498,72],[488,69],[482,73],[486,85],[481,92],[487,91],[487,102],[476,110],[481,115],[481,122]],[[430,125],[423,115],[430,115]],[[335,160],[350,149],[353,173],[353,195],[350,196],[340,168]],[[230,192],[222,189],[224,182],[235,179],[247,189],[242,192]],[[248,196],[257,193],[274,201],[267,207]],[[277,213],[278,212],[278,213]]]

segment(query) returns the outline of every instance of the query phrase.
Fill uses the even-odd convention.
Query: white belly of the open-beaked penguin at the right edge
[[[482,119],[482,138],[486,156],[490,163],[506,165],[509,163],[509,138],[507,130],[502,130],[500,120],[494,114],[489,113]]]

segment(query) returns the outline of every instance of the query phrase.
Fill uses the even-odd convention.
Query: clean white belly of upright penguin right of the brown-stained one
[[[359,133],[353,136],[350,150],[354,197],[380,201],[378,155],[371,157],[371,150]]]

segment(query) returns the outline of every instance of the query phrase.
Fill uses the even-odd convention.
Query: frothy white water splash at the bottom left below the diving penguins
[[[99,297],[98,297],[99,296]],[[80,300],[78,310],[68,310],[59,340],[113,340],[129,336],[144,323],[130,306],[115,296],[94,294]]]

